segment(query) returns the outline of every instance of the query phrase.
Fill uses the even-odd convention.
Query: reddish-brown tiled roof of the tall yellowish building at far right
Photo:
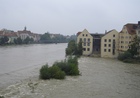
[[[131,35],[136,34],[136,28],[138,26],[137,24],[128,23],[125,26],[126,26],[127,31],[128,31],[129,34],[131,34]]]

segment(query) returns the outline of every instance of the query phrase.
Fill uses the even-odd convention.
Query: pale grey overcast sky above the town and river
[[[0,29],[43,34],[120,31],[140,21],[140,0],[0,0]]]

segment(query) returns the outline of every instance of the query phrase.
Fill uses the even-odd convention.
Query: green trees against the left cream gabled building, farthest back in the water
[[[75,40],[71,40],[65,50],[66,55],[79,55],[83,54],[82,42],[76,44]]]

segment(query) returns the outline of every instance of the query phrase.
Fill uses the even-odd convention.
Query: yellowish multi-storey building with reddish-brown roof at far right
[[[137,24],[126,24],[119,33],[119,53],[127,51],[136,37]]]

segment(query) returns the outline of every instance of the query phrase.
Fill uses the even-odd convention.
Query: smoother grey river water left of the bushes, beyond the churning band
[[[67,44],[0,47],[0,87],[38,75],[39,68],[65,58]]]

